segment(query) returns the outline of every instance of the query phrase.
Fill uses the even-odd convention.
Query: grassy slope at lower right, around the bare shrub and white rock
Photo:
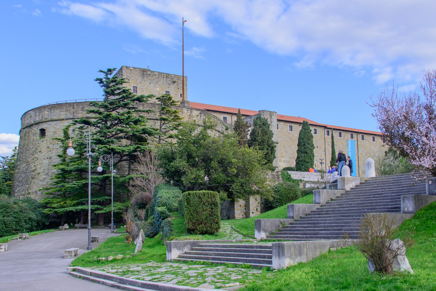
[[[436,202],[420,210],[399,228],[414,231],[415,245],[406,256],[415,274],[371,275],[366,260],[354,248],[331,251],[308,263],[299,263],[276,272],[273,279],[264,274],[244,291],[421,291],[436,290]],[[241,290],[242,291],[242,290]]]

